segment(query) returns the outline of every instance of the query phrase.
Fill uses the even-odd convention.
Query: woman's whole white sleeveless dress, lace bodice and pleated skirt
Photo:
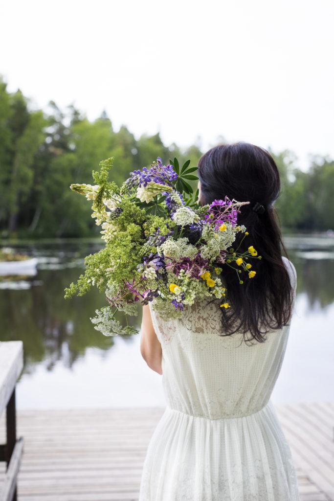
[[[283,257],[291,285],[296,272]],[[139,501],[297,501],[290,449],[270,395],[289,326],[251,346],[219,336],[220,311],[207,302],[163,321],[151,308],[162,345],[167,407],[150,440]]]

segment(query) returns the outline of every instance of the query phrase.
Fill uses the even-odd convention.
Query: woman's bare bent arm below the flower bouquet
[[[152,324],[149,305],[143,306],[140,351],[147,365],[158,374],[162,374],[162,349]]]

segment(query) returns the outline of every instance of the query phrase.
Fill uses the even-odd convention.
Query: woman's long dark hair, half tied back
[[[244,224],[249,231],[240,252],[253,245],[262,259],[251,261],[256,276],[242,285],[235,271],[224,266],[231,308],[221,308],[222,328],[223,335],[242,332],[245,340],[263,342],[269,331],[288,324],[292,308],[292,288],[282,250],[287,253],[273,207],[280,191],[277,166],[266,150],[239,142],[207,151],[199,160],[198,176],[202,203],[225,196],[250,202],[240,208],[238,215],[238,224]],[[252,209],[256,202],[264,206],[263,213]],[[236,246],[239,242],[240,238]]]

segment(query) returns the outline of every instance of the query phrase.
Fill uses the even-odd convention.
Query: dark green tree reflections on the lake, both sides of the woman
[[[333,238],[288,237],[289,257],[297,270],[297,295],[307,298],[308,310],[333,308]],[[83,257],[99,249],[89,241],[20,244],[18,250],[38,258],[34,277],[2,278],[0,282],[0,340],[22,340],[25,373],[43,364],[51,371],[58,361],[68,368],[94,347],[103,355],[114,344],[94,330],[89,318],[105,305],[97,290],[64,300],[64,289],[83,269]],[[314,253],[315,259],[310,259]],[[321,254],[322,253],[322,254]],[[320,257],[319,257],[320,254]],[[125,322],[123,317],[119,317]],[[132,319],[131,319],[132,320]],[[140,317],[133,317],[139,326]],[[121,342],[131,342],[131,336]]]

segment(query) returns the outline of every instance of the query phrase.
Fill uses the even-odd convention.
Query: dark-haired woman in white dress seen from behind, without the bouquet
[[[210,149],[198,172],[201,203],[249,200],[238,223],[262,259],[252,264],[256,279],[243,285],[224,267],[228,309],[202,301],[162,321],[144,307],[141,352],[163,374],[168,405],[148,447],[139,499],[295,501],[290,450],[270,402],[296,289],[273,209],[278,170],[267,151],[237,143]]]

